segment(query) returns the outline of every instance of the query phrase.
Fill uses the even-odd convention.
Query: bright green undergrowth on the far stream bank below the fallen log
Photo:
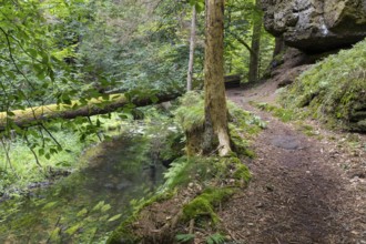
[[[122,126],[128,124],[122,119],[131,121],[132,118],[129,113],[112,113],[92,116],[90,122],[80,125],[55,122],[47,130],[29,129],[27,136],[1,134],[0,196],[19,196],[27,193],[31,183],[54,180],[82,167],[87,163],[80,160],[83,150],[122,133]],[[90,129],[98,131],[92,133]]]

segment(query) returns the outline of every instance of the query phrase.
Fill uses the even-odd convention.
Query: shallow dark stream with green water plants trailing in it
[[[0,203],[0,243],[104,243],[131,214],[131,202],[163,181],[163,166],[148,151],[145,136],[115,138],[89,149],[82,170]]]

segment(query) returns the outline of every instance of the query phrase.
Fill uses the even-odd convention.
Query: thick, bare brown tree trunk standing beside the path
[[[225,0],[206,0],[205,7],[205,131],[203,152],[210,153],[217,149],[220,155],[226,155],[231,152],[224,85],[224,3]]]

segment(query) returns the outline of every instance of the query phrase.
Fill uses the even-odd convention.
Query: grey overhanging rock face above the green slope
[[[267,31],[305,52],[353,44],[366,37],[366,0],[262,0]]]

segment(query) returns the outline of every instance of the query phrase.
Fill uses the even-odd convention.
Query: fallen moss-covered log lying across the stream
[[[71,101],[70,104],[49,104],[24,110],[0,112],[0,131],[4,131],[7,128],[13,128],[14,124],[19,128],[29,128],[54,119],[71,120],[78,116],[106,114],[128,104],[145,106],[171,101],[179,95],[179,93],[170,93],[156,94],[153,99],[151,96],[128,99],[126,95],[121,93],[85,101]]]

